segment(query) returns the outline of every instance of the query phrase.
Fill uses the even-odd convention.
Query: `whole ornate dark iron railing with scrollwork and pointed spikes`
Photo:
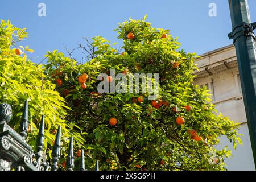
[[[61,127],[58,127],[55,142],[52,150],[52,162],[47,161],[47,156],[44,148],[44,115],[42,116],[38,138],[36,140],[36,150],[27,144],[26,138],[28,135],[28,102],[25,102],[22,121],[17,133],[7,123],[13,117],[11,106],[9,104],[0,104],[0,171],[10,171],[16,169],[18,171],[57,171],[59,169],[60,159],[60,139]],[[85,171],[84,150],[81,150],[80,170]],[[67,170],[74,169],[74,154],[73,154],[73,138],[70,138]],[[98,161],[96,162],[96,171],[98,171]]]

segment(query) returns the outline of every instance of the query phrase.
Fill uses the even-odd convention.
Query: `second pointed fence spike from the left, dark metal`
[[[40,166],[40,164],[46,160],[46,154],[44,152],[44,115],[42,115],[38,139],[36,140],[36,159]]]

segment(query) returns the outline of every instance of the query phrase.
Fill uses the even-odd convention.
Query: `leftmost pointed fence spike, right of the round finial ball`
[[[19,130],[20,130],[20,135],[22,136],[23,140],[26,140],[27,138],[27,131],[28,131],[28,101],[25,101],[24,109],[23,109],[23,114],[22,114],[22,121],[19,125]]]

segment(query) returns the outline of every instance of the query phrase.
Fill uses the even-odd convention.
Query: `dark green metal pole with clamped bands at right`
[[[232,33],[236,47],[237,63],[240,72],[243,101],[256,164],[256,46],[254,28],[251,23],[247,0],[229,0]]]

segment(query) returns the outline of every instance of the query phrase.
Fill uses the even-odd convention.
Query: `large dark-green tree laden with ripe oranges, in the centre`
[[[46,75],[61,82],[56,90],[72,109],[68,120],[85,134],[77,149],[84,148],[87,168],[97,159],[100,169],[225,169],[231,152],[215,146],[224,135],[236,148],[237,124],[217,113],[207,88],[193,84],[196,54],[179,50],[170,31],[152,28],[146,17],[129,19],[116,31],[123,51],[97,36],[84,64],[57,51],[46,55]],[[115,80],[110,69],[124,75],[159,73],[157,98],[148,100],[148,92],[98,93],[100,73],[109,75],[109,84]]]

